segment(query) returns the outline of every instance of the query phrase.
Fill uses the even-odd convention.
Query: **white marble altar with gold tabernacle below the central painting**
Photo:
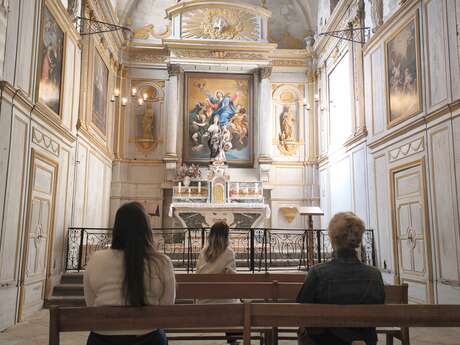
[[[263,227],[271,215],[262,182],[230,181],[225,166],[211,166],[206,179],[179,181],[173,187],[169,217],[186,228],[225,222],[230,228]]]

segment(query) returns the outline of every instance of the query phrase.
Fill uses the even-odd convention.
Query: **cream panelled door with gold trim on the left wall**
[[[20,320],[43,306],[50,268],[57,169],[56,162],[36,151],[32,152],[22,263]]]

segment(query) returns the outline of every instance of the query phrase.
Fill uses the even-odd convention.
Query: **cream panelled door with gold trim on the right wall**
[[[432,303],[432,265],[423,161],[392,170],[392,211],[398,283],[412,302]]]

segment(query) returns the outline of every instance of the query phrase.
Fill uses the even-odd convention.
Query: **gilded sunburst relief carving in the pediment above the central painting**
[[[184,14],[182,38],[257,41],[257,16],[238,8],[199,8]]]

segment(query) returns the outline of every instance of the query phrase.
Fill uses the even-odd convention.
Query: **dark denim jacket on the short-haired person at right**
[[[376,268],[361,263],[354,250],[341,249],[333,253],[331,261],[310,269],[297,302],[383,304],[382,275]],[[368,345],[377,342],[375,328],[308,329],[308,333],[319,345],[330,345],[331,338],[336,339],[337,344],[350,344],[353,340],[364,340]],[[326,343],[321,339],[329,340]]]

